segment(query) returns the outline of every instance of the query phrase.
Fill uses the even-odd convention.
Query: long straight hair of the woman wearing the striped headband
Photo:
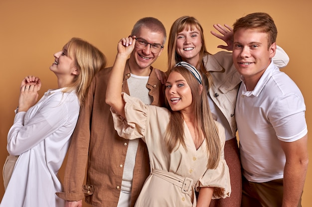
[[[174,67],[170,70],[169,73],[173,71],[180,73],[185,78],[187,84],[191,89],[191,107],[194,112],[193,116],[195,122],[194,125],[196,126],[197,131],[196,134],[203,134],[204,139],[207,143],[207,167],[210,169],[214,169],[218,166],[218,162],[221,157],[221,145],[220,138],[218,136],[217,126],[215,125],[210,112],[206,90],[202,90],[201,94],[198,94],[200,84],[191,74],[191,72],[184,67]],[[202,81],[202,84],[203,88],[205,88],[204,81]],[[181,144],[186,149],[186,145],[184,142],[183,115],[180,111],[172,111],[167,99],[165,100],[165,104],[171,112],[170,121],[166,128],[165,134],[167,149],[171,153],[173,150],[177,149],[179,144]]]

